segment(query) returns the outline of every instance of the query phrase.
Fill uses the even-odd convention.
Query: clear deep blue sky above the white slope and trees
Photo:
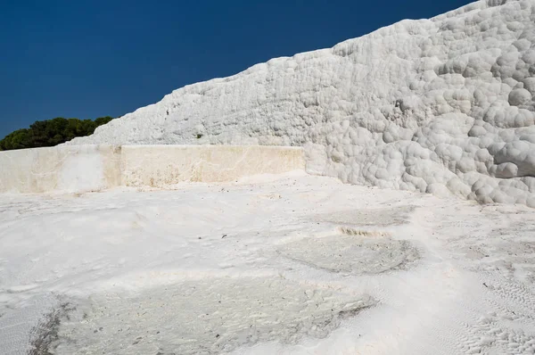
[[[35,120],[121,116],[172,90],[469,0],[0,2],[0,138]]]

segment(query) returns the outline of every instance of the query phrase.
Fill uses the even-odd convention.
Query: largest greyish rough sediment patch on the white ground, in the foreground
[[[78,300],[57,354],[211,354],[325,338],[375,301],[276,277],[205,278]]]

